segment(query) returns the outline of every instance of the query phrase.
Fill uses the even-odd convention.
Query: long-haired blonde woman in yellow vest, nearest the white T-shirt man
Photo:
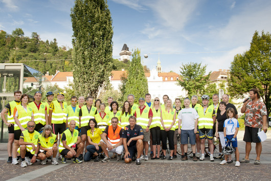
[[[174,152],[174,131],[175,131],[175,119],[176,119],[176,110],[173,109],[172,100],[167,99],[165,109],[162,109],[161,114],[161,138],[162,138],[162,149],[164,155],[162,159],[166,159],[166,150],[167,150],[167,138],[169,143],[170,149],[170,156],[168,160],[173,159],[173,152]]]

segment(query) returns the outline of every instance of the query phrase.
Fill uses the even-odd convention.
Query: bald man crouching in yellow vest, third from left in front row
[[[70,128],[62,133],[59,144],[59,153],[63,156],[62,164],[67,163],[66,159],[72,157],[74,157],[74,163],[82,163],[79,155],[84,149],[84,146],[81,143],[81,138],[78,136],[78,130],[75,129],[75,126],[75,120],[71,120]]]

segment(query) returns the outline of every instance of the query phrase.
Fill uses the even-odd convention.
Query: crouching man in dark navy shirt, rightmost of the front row
[[[143,153],[143,130],[140,125],[137,125],[137,118],[135,116],[129,117],[129,125],[124,127],[122,133],[123,146],[125,150],[124,161],[126,164],[132,162],[132,158],[137,154],[136,163],[140,165],[140,156]]]

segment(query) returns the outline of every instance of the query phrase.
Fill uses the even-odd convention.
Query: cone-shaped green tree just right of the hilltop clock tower
[[[132,62],[128,70],[124,99],[126,100],[128,94],[133,94],[135,96],[134,101],[137,103],[138,99],[144,97],[146,93],[148,93],[148,82],[141,64],[140,50],[137,48],[132,53]]]

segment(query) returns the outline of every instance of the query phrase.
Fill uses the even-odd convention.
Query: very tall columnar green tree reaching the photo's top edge
[[[77,93],[97,97],[112,70],[112,19],[104,0],[76,0],[71,12],[74,84]]]

